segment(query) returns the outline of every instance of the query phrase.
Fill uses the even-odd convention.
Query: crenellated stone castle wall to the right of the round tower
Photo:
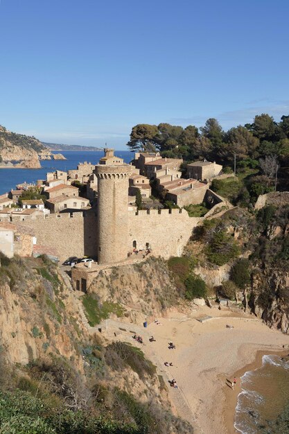
[[[202,218],[189,217],[184,209],[150,209],[130,211],[128,220],[128,251],[132,251],[136,241],[137,249],[149,245],[154,256],[168,259],[182,254]]]

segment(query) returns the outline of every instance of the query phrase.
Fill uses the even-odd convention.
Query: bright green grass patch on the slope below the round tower
[[[103,302],[103,304],[100,305],[98,300],[87,294],[83,295],[82,304],[85,307],[87,320],[91,327],[99,324],[101,320],[106,320],[109,318],[110,313],[115,313],[118,318],[121,318],[125,312],[125,309],[123,309],[123,307],[121,307],[118,303]]]

